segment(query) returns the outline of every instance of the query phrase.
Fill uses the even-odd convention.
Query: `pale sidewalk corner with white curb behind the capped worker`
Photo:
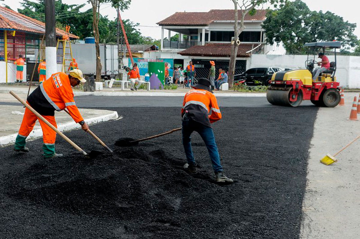
[[[26,95],[24,96],[26,97]],[[12,97],[12,95],[10,95],[10,97]],[[16,100],[15,98],[13,99]],[[3,100],[4,99],[1,98],[1,101]],[[25,109],[23,108],[23,106],[20,105],[5,105],[5,102],[1,103],[0,146],[4,146],[15,142],[15,138],[18,134]],[[79,111],[88,125],[109,120],[116,120],[119,118],[116,111],[107,111],[100,109],[79,109]],[[81,126],[75,123],[73,119],[64,111],[55,111],[55,118],[58,124],[58,129],[60,131],[69,131],[76,128],[81,128]],[[42,130],[39,121],[36,122],[33,131],[30,133],[27,139],[31,140],[37,137],[42,137]]]

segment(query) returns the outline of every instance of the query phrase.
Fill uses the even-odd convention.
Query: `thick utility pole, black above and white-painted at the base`
[[[45,58],[46,79],[57,72],[55,0],[45,0]]]

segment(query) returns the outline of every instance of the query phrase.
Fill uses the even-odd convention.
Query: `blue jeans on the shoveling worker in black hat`
[[[183,120],[183,145],[185,150],[186,159],[188,164],[194,164],[195,158],[193,155],[193,150],[191,148],[191,134],[192,132],[198,132],[201,138],[203,139],[207,151],[209,152],[212,168],[215,173],[222,172],[222,166],[220,164],[219,151],[217,150],[214,132],[211,127],[205,126],[201,123],[195,122],[193,120],[184,119]]]

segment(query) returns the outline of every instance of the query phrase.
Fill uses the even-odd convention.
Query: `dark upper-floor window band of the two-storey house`
[[[240,42],[261,42],[260,32],[242,32],[239,35]],[[231,42],[234,37],[233,31],[211,31],[210,41],[212,42]]]

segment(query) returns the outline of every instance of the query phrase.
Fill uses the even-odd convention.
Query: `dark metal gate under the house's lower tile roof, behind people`
[[[192,59],[192,62],[195,66],[196,78],[207,78],[209,75],[209,69],[211,60],[204,59]],[[219,75],[219,68],[229,69],[229,61],[228,60],[213,60],[215,61],[216,68],[216,78]],[[237,60],[235,63],[235,75],[241,74],[246,70],[246,60]]]

